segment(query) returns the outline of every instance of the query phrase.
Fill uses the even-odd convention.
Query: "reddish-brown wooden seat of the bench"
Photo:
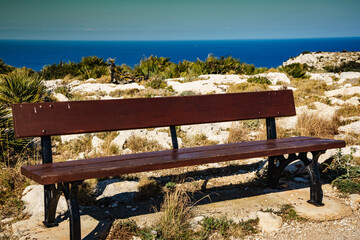
[[[40,184],[53,184],[344,146],[345,142],[341,140],[292,137],[24,166],[21,172]]]

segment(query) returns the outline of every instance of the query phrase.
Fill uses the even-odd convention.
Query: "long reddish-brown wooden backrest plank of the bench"
[[[291,90],[14,104],[16,137],[225,122],[296,114]]]

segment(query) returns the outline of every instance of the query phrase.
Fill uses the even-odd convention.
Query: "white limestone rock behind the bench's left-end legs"
[[[44,186],[30,185],[25,188],[21,200],[25,204],[24,212],[32,217],[44,216]],[[58,214],[64,214],[67,211],[66,200],[60,197],[56,209]]]

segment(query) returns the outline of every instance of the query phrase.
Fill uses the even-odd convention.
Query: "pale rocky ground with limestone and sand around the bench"
[[[345,60],[342,60],[345,59]],[[358,61],[359,53],[306,53],[289,59],[284,65],[306,63],[321,69],[329,64],[344,61]],[[270,80],[271,89],[293,89],[297,116],[278,119],[277,126],[285,133],[300,131],[299,122],[303,116],[316,116],[317,119],[337,124],[336,139],[345,139],[348,146],[342,154],[352,153],[360,159],[360,73],[308,73],[309,79],[293,79],[285,73],[269,71],[258,74]],[[45,85],[58,101],[83,99],[119,99],[127,97],[156,97],[169,95],[212,94],[231,92],[234,86],[246,83],[246,75],[203,75],[191,82],[185,79],[167,79],[165,89],[152,89],[141,83],[116,85],[100,83],[97,79],[49,80]],[[253,77],[253,76],[252,76]],[[312,84],[324,84],[325,90],[313,93],[314,86],[302,87],[299,84],[308,81]],[[236,88],[236,87],[235,87]],[[301,91],[301,94],[297,94]],[[229,142],[234,129],[244,127],[241,123],[212,123],[181,126],[179,145],[187,147],[200,144],[221,144]],[[261,138],[261,122],[248,122],[247,131],[241,134],[247,140]],[[278,129],[279,130],[279,129]],[[144,141],[153,146],[153,150],[171,148],[171,138],[167,128],[129,130],[113,132],[107,135],[87,134],[61,136],[55,139],[55,161],[81,159],[109,154],[127,154],[137,152],[135,142]],[[36,143],[36,142],[35,142]],[[76,146],[76,151],[74,151]],[[327,162],[338,150],[328,150],[320,163]],[[205,216],[227,217],[233,222],[259,218],[259,233],[245,236],[246,239],[359,239],[360,233],[360,196],[344,195],[329,184],[324,186],[324,207],[314,207],[306,203],[309,198],[308,176],[301,162],[287,167],[282,190],[272,190],[259,185],[259,172],[266,166],[266,159],[249,159],[229,163],[215,163],[175,170],[162,170],[104,181],[88,182],[92,199],[81,207],[82,236],[84,239],[105,239],[111,225],[118,219],[133,219],[138,226],[151,226],[159,214],[162,194],[145,199],[139,198],[139,181],[150,177],[164,187],[179,176],[186,175],[183,185],[194,195],[193,216],[189,220],[192,228],[200,227]],[[260,181],[261,182],[261,181]],[[25,220],[2,219],[0,239],[68,239],[68,219],[66,202],[62,197],[58,206],[60,226],[46,229],[42,226],[43,190],[42,186],[31,185],[23,193],[24,212],[29,216]],[[207,196],[204,198],[204,196]],[[281,206],[291,204],[296,213],[306,220],[287,220],[273,212]],[[210,239],[222,239],[214,233]],[[10,236],[12,235],[12,237]],[[242,236],[243,237],[243,236]],[[238,239],[236,234],[232,239]],[[134,238],[136,239],[136,238]]]

